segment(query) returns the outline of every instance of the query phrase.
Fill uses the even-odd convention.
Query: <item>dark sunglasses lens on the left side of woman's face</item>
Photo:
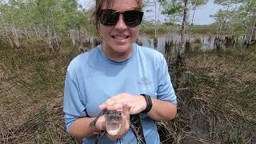
[[[105,26],[114,26],[118,22],[119,14],[115,10],[101,10],[100,21]]]

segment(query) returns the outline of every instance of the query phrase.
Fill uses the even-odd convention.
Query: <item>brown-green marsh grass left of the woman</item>
[[[78,143],[66,134],[62,114],[64,75],[75,54],[29,45],[1,47],[0,143]]]

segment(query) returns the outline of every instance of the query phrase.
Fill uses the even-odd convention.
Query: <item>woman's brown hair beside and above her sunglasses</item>
[[[105,2],[106,2],[106,8],[111,8],[113,6],[113,1],[114,0],[95,0],[96,5],[94,8],[94,13],[92,15],[92,19],[93,19],[94,26],[95,26],[95,29],[97,30],[97,32],[98,32],[98,24],[100,21],[99,11],[102,10],[102,6],[103,6],[103,4],[105,4]],[[142,0],[136,0],[136,1],[138,3],[138,8],[142,10],[142,7],[143,7]]]

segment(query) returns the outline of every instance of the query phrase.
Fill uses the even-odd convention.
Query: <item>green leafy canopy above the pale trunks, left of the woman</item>
[[[0,30],[12,27],[28,31],[50,29],[58,35],[69,30],[88,30],[92,24],[76,0],[10,0],[0,2]],[[21,33],[21,32],[20,32]],[[1,34],[0,34],[1,35]]]

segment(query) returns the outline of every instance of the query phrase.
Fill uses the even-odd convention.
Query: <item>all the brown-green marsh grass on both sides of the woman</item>
[[[17,51],[0,44],[0,143],[79,143],[62,113],[66,66],[78,52],[68,42],[59,54],[34,40]],[[188,51],[178,115],[158,123],[162,143],[255,143],[255,53]]]

